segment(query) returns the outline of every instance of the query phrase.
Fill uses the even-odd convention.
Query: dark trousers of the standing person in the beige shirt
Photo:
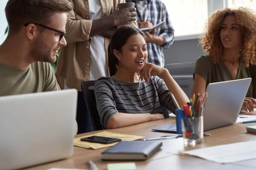
[[[84,96],[81,91],[78,91],[78,97],[77,97],[76,122],[78,125],[77,134],[93,131],[88,109],[86,107]]]

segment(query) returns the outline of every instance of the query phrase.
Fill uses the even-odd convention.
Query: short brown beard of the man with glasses
[[[43,38],[39,36],[37,40],[35,40],[31,56],[36,61],[53,63],[56,61],[56,57],[52,57],[51,52],[51,48],[45,44]]]

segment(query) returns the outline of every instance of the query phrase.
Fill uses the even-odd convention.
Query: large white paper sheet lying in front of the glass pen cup
[[[223,144],[182,152],[220,164],[256,159],[256,141]]]

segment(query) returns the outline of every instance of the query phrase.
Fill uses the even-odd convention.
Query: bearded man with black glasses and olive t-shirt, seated
[[[9,0],[9,25],[0,45],[0,96],[60,90],[51,65],[67,45],[69,0]]]

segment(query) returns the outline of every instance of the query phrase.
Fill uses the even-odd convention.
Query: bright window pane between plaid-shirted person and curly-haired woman
[[[162,0],[175,29],[175,37],[201,34],[208,19],[207,0]]]

